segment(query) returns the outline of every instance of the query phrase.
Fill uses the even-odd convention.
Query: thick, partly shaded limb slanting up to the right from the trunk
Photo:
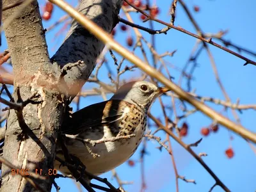
[[[81,1],[78,10],[110,33],[118,22],[121,4],[121,0]],[[64,83],[67,83],[69,95],[75,96],[79,92],[95,68],[96,60],[104,46],[104,42],[101,42],[99,38],[93,36],[90,31],[73,20],[65,42],[51,59],[55,66],[60,67],[72,65],[78,61],[83,62],[83,65],[77,65],[71,70],[67,70],[67,74],[64,76]]]

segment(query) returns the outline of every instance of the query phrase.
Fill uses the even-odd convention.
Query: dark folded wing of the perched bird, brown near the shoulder
[[[125,107],[130,105],[122,100],[107,100],[87,106],[73,113],[68,124],[64,125],[61,131],[64,134],[79,134],[85,129],[93,129],[100,125],[118,124],[127,112]]]

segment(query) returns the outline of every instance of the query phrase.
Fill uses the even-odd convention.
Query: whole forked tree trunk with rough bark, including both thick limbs
[[[4,5],[16,1],[6,0]],[[121,4],[122,0],[84,0],[79,10],[110,32],[115,27]],[[3,12],[3,21],[18,9],[19,6]],[[76,95],[95,67],[104,44],[73,22],[65,42],[51,60],[52,65],[36,1],[26,6],[4,31],[12,55],[13,97],[17,101],[19,86],[22,100],[36,92],[40,104],[28,104],[22,113],[10,110],[3,157],[20,169],[28,168],[31,172],[35,172],[35,168],[42,169],[43,174],[49,176],[48,170],[54,164],[57,133],[68,105],[67,91],[63,88],[68,89],[68,96]],[[61,80],[60,68],[67,66],[73,67]],[[76,90],[71,90],[77,84]],[[4,164],[1,177],[1,191],[36,191],[20,175],[13,176]],[[51,177],[35,182],[51,191]]]

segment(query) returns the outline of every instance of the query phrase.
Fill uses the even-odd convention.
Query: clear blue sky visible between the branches
[[[40,5],[44,5],[45,1],[40,0]],[[71,1],[68,1],[71,2]],[[172,1],[170,1],[172,2]],[[170,17],[168,16],[168,8],[170,2],[157,1],[157,5],[161,8],[161,13],[159,19],[163,19],[168,22]],[[244,0],[241,1],[185,1],[189,9],[192,10],[194,5],[200,6],[200,12],[195,13],[192,11],[193,16],[202,28],[204,32],[217,33],[220,29],[228,29],[228,34],[225,35],[225,39],[231,40],[232,43],[241,45],[256,52],[256,42],[255,42],[255,7],[256,1]],[[74,1],[72,4],[75,4]],[[195,33],[191,22],[189,22],[186,13],[179,5],[177,6],[177,15],[175,20],[175,26],[182,26],[182,28],[187,29]],[[64,12],[54,7],[54,13],[52,15],[52,20],[44,22],[44,27],[47,28],[54,21],[59,19]],[[124,14],[120,14],[124,17]],[[125,17],[124,17],[125,18]],[[142,23],[139,19],[139,15],[136,13],[132,14],[132,18],[138,24],[143,26],[148,26],[148,23]],[[61,26],[53,29],[50,33],[47,33],[47,43],[49,47],[49,53],[52,56],[56,49],[60,46],[63,41],[64,34],[56,37],[56,33],[60,31]],[[155,29],[161,29],[163,26],[154,23]],[[147,33],[141,31],[145,38],[150,41],[150,36]],[[134,35],[132,29],[129,29],[128,34]],[[127,33],[118,30],[115,39],[120,42],[120,44],[125,45],[125,38]],[[4,41],[4,40],[3,40]],[[177,52],[172,58],[164,58],[166,63],[172,63],[173,65],[182,68],[189,58],[191,49],[195,45],[196,39],[188,36],[179,31],[171,29],[168,31],[168,35],[156,35],[156,49],[157,52],[163,53],[166,51],[173,51],[177,49]],[[256,95],[256,77],[255,77],[255,66],[247,65],[243,67],[244,61],[236,58],[227,52],[209,45],[210,50],[216,61],[218,67],[218,72],[228,95],[233,102],[236,102],[237,98],[241,100],[241,104],[253,104],[255,103]],[[6,48],[6,43],[3,42],[1,51]],[[236,51],[236,50],[235,50]],[[141,57],[140,51],[135,52],[136,55]],[[150,52],[147,52],[148,58],[151,58]],[[241,52],[244,56],[256,60],[256,58],[244,52]],[[119,58],[117,56],[117,58]],[[120,58],[119,58],[120,59]],[[108,55],[109,66],[113,67],[112,70],[115,72],[115,68],[111,58]],[[130,65],[129,62],[125,61],[124,65]],[[174,81],[177,83],[179,81],[179,72],[172,70],[170,72]],[[105,74],[105,75],[104,75]],[[127,72],[124,76],[138,77],[139,72]],[[100,70],[100,80],[108,82],[109,79],[106,76],[106,67],[102,67]],[[198,67],[194,73],[195,79],[192,81],[192,87],[196,88],[196,93],[202,96],[212,96],[218,99],[225,99],[221,93],[220,88],[216,84],[216,79],[212,72],[211,63],[205,51],[202,52],[198,58]],[[84,89],[92,88],[97,86],[95,84],[86,84]],[[183,88],[186,88],[186,81],[183,81]],[[111,95],[108,95],[108,98]],[[95,102],[102,101],[102,97],[88,97],[82,99],[80,108],[93,104]],[[171,104],[170,99],[164,98],[166,104]],[[220,106],[214,107],[217,111],[221,111]],[[76,108],[74,108],[76,109]],[[152,108],[151,112],[156,116],[163,116],[161,109],[159,108],[159,103],[156,102]],[[178,111],[181,113],[181,111]],[[228,118],[234,120],[232,113],[223,113],[223,115],[228,116]],[[243,111],[241,116],[241,123],[247,129],[255,132],[255,111],[248,110]],[[180,124],[183,121],[180,122]],[[212,123],[212,120],[207,118],[202,113],[197,112],[189,118],[186,119],[189,124],[189,134],[188,137],[184,138],[184,142],[193,143],[200,139],[200,129]],[[232,141],[232,147],[234,148],[235,156],[232,159],[227,159],[224,152],[230,147],[230,134],[234,137]],[[165,135],[159,133],[158,136],[162,136],[163,139]],[[186,152],[179,144],[172,141],[173,154],[175,162],[177,164],[177,169],[180,175],[185,176],[187,179],[195,179],[196,185],[191,183],[186,183],[179,180],[180,192],[183,191],[209,191],[211,186],[214,184],[214,179],[211,175],[207,173],[202,166],[196,162],[193,157]],[[166,151],[159,152],[157,150],[158,143],[154,141],[148,141],[147,151],[148,155],[145,156],[145,179],[147,184],[147,191],[174,191],[175,190],[175,175],[173,172],[172,159]],[[207,138],[204,138],[202,143],[194,148],[196,153],[206,152],[207,157],[204,157],[205,163],[216,173],[216,175],[228,186],[231,191],[255,191],[256,190],[256,161],[255,154],[252,149],[243,139],[239,138],[236,134],[228,132],[225,127],[220,127],[220,131],[216,134],[210,134]],[[134,161],[140,159],[140,148],[134,156],[131,157]],[[141,172],[140,163],[136,162],[136,165],[131,168],[127,163],[122,164],[116,168],[116,172],[120,176],[120,179],[133,181],[134,184],[125,186],[127,191],[140,191],[141,187]],[[111,173],[106,173],[102,177],[107,177],[111,183],[117,186],[115,179],[111,180]],[[61,191],[76,191],[76,186],[74,181],[70,179],[57,179],[58,185],[61,187]],[[55,191],[52,188],[52,191]],[[216,187],[213,191],[223,191],[220,187]]]

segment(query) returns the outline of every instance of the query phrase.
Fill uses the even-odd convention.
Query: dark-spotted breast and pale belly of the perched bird
[[[119,132],[116,136],[135,134],[134,137],[126,140],[107,141],[97,144],[94,147],[86,144],[87,147],[90,147],[91,152],[88,151],[88,148],[82,142],[72,140],[72,144],[68,143],[68,151],[81,160],[88,172],[100,175],[124,163],[134,154],[143,138],[146,123],[147,118],[143,113],[137,115],[137,118],[136,116],[126,114],[120,121]],[[106,140],[115,137],[113,127],[109,125],[92,127],[92,130],[90,132],[84,132],[79,137],[90,138],[90,140]],[[97,157],[93,157],[92,153],[97,154]]]

